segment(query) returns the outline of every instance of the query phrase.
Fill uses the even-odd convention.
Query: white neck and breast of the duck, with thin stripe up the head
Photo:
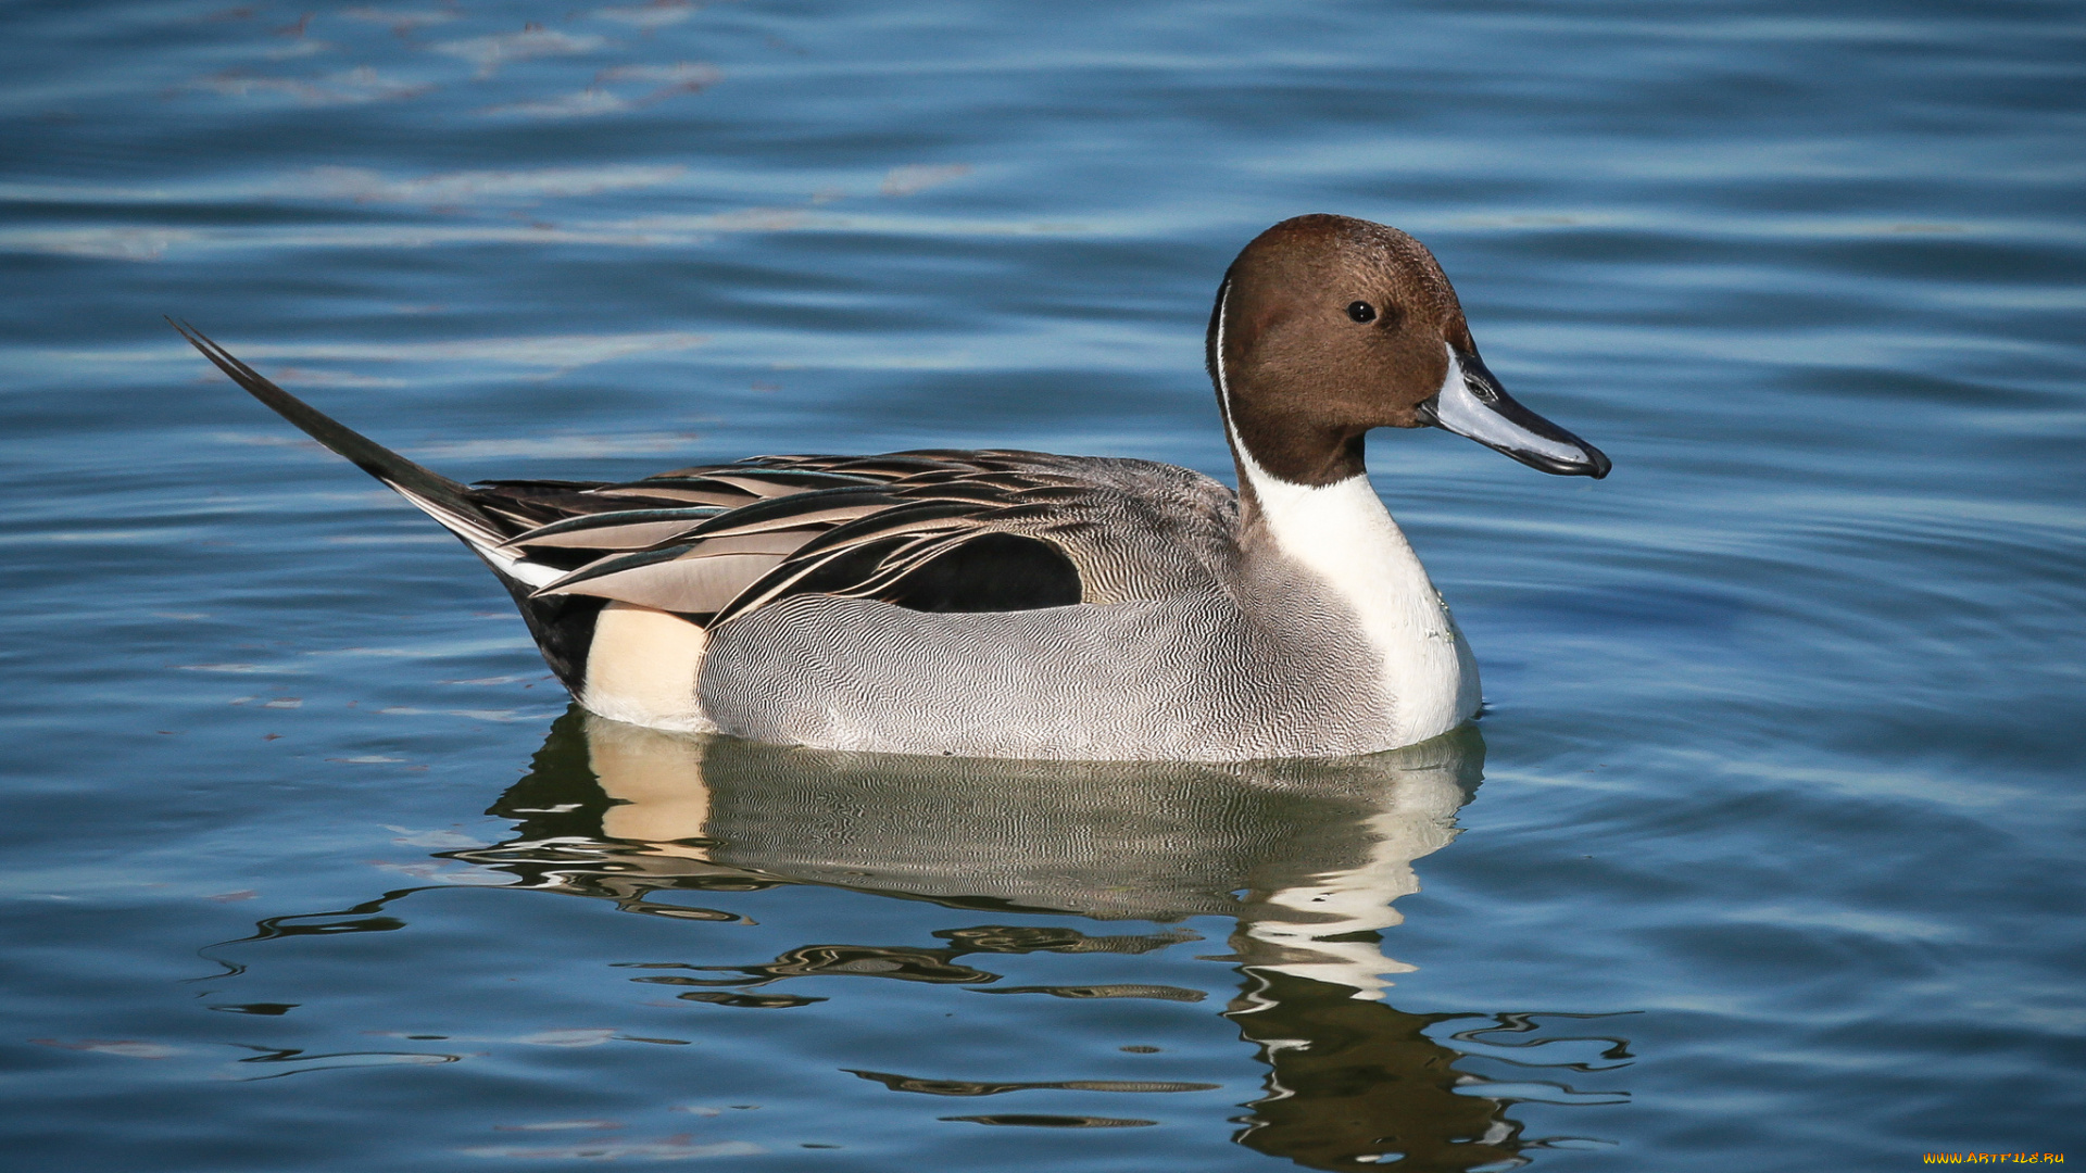
[[[1383,660],[1379,687],[1389,701],[1389,745],[1448,733],[1477,714],[1477,660],[1448,603],[1427,578],[1406,534],[1366,474],[1333,484],[1297,484],[1260,468],[1239,436],[1224,372],[1224,301],[1216,315],[1216,390],[1239,459],[1241,493],[1252,493],[1268,534],[1354,612],[1360,635]]]

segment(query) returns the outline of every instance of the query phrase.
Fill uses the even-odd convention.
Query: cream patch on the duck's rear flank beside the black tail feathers
[[[680,616],[613,601],[595,622],[580,703],[630,724],[715,733],[695,695],[707,647],[709,632]]]

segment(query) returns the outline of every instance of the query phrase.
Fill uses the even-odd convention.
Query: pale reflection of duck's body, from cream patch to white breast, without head
[[[1448,843],[1483,768],[1471,731],[1241,764],[832,753],[601,718],[586,743],[617,801],[601,835],[651,843],[624,856],[626,879],[724,866],[1110,920],[1235,916],[1241,960],[1364,996],[1404,966],[1345,937],[1398,923],[1412,860]]]

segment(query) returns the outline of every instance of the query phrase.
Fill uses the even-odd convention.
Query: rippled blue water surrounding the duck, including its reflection
[[[2078,6],[305,10],[0,17],[10,1165],[2086,1148]],[[1306,211],[1617,463],[1375,440],[1489,710],[1358,764],[588,728],[159,317],[459,478],[1229,476]]]

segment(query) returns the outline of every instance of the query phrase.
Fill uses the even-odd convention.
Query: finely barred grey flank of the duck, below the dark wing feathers
[[[1391,728],[1352,641],[1222,593],[928,614],[799,595],[711,632],[722,733],[878,753],[1229,762],[1366,753]]]

